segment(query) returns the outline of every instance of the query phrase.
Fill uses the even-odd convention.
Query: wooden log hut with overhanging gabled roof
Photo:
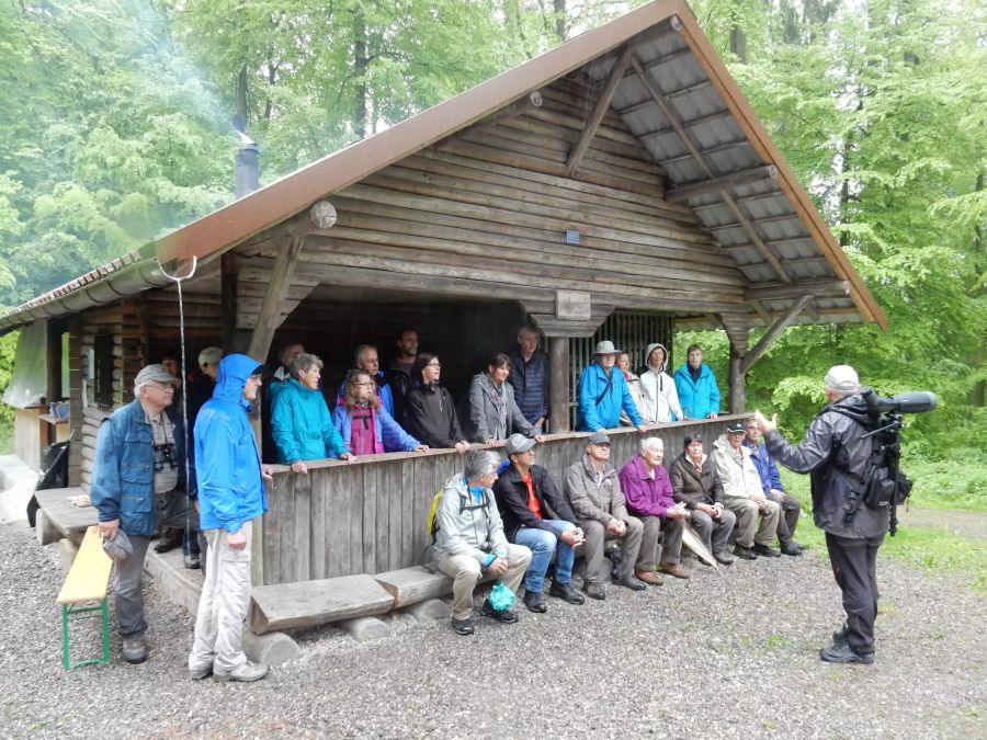
[[[99,423],[132,398],[139,367],[180,342],[166,271],[191,274],[193,362],[209,344],[262,358],[295,340],[327,361],[332,384],[356,344],[377,344],[386,363],[396,332],[415,327],[456,395],[532,322],[552,361],[553,435],[540,455],[556,474],[582,451],[569,431],[574,379],[598,339],[638,362],[651,341],[670,346],[677,326],[723,327],[740,413],[745,373],[787,326],[885,326],[680,0],[629,12],[0,317],[0,332],[46,327],[46,398],[69,402],[72,486],[88,487]],[[767,332],[748,348],[752,328]],[[674,451],[721,424],[656,433]],[[626,459],[635,434],[615,439]],[[417,562],[428,504],[457,460],[435,451],[327,460],[307,476],[279,468],[256,580]]]

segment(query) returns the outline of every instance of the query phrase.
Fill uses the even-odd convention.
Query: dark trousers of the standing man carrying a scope
[[[877,549],[884,535],[851,539],[826,533],[826,548],[837,585],[843,592],[847,642],[859,656],[874,652],[874,619],[877,618]]]

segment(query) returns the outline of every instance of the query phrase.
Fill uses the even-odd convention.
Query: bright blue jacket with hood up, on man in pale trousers
[[[213,398],[195,420],[198,521],[202,530],[238,532],[268,511],[257,439],[243,386],[259,363],[242,354],[219,362]]]

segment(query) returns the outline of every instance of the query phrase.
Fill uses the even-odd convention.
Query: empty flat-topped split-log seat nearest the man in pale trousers
[[[256,585],[251,590],[250,628],[258,635],[304,629],[386,614],[392,596],[370,576],[343,576],[319,581]]]

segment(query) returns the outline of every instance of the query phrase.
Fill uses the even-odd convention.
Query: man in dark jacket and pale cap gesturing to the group
[[[816,414],[801,445],[785,441],[776,418],[768,420],[758,411],[755,419],[779,463],[795,473],[812,474],[813,517],[826,532],[829,561],[847,612],[843,628],[819,657],[833,663],[872,663],[877,616],[874,568],[888,528],[888,510],[858,505],[851,496],[851,483],[863,479],[872,446],[870,437],[862,439],[870,426],[856,371],[837,365],[824,382],[829,403]]]

